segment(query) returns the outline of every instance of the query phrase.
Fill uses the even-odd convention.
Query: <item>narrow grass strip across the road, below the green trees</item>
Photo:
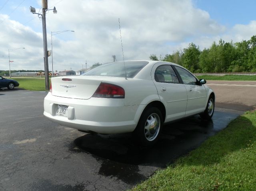
[[[198,75],[198,79],[205,80],[237,80],[237,81],[256,81],[256,75],[224,75],[224,76],[214,76],[214,75]]]

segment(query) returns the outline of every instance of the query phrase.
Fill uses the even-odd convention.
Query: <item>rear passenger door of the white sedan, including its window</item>
[[[187,91],[170,64],[160,62],[152,68],[152,80],[166,108],[165,122],[185,116]]]

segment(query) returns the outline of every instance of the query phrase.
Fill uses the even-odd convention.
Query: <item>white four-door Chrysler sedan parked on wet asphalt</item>
[[[44,115],[83,132],[134,132],[154,144],[163,124],[200,114],[210,119],[215,95],[184,67],[164,61],[120,61],[80,76],[54,77]]]

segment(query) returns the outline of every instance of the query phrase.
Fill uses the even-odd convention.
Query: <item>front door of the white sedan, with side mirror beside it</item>
[[[188,103],[185,116],[191,116],[203,112],[205,110],[207,98],[204,85],[198,85],[196,77],[186,69],[178,66],[174,67],[178,71],[188,92]]]

